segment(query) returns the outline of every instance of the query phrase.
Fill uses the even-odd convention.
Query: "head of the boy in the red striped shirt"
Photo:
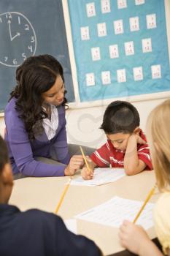
[[[129,102],[117,100],[105,110],[101,129],[115,148],[125,151],[130,135],[139,133],[139,124],[136,108]]]

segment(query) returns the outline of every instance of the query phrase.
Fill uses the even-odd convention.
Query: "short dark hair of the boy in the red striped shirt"
[[[129,102],[117,100],[110,103],[105,110],[101,129],[107,134],[132,133],[139,124],[140,118],[136,108]]]

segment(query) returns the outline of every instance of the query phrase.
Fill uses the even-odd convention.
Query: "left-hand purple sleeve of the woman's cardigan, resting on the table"
[[[5,123],[9,155],[15,160],[20,173],[26,176],[64,176],[65,165],[50,165],[34,159],[28,134],[15,109],[7,110]]]

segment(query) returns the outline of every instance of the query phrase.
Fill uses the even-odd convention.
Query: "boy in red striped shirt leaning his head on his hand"
[[[107,107],[101,129],[107,135],[107,143],[90,156],[90,168],[82,168],[82,178],[93,178],[94,167],[124,167],[127,175],[151,170],[149,148],[139,128],[139,113],[129,102],[115,101]]]

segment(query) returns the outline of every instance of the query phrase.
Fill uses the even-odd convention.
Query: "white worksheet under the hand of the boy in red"
[[[125,176],[125,170],[122,168],[97,168],[94,170],[94,178],[85,181],[82,177],[75,178],[71,181],[71,185],[76,186],[97,186],[107,184]]]

